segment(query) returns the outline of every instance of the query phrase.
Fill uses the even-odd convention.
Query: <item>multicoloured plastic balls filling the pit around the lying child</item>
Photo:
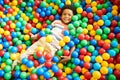
[[[51,34],[64,5],[73,5],[77,14],[64,31],[62,49],[51,57],[38,47],[12,69],[35,42],[31,33]],[[58,56],[68,56],[73,46],[71,60],[60,63]],[[0,0],[0,80],[120,80],[120,1]]]

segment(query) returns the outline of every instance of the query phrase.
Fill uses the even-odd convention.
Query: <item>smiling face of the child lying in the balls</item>
[[[63,10],[63,13],[61,15],[61,20],[63,23],[68,24],[71,22],[73,16],[73,11],[70,9]]]

